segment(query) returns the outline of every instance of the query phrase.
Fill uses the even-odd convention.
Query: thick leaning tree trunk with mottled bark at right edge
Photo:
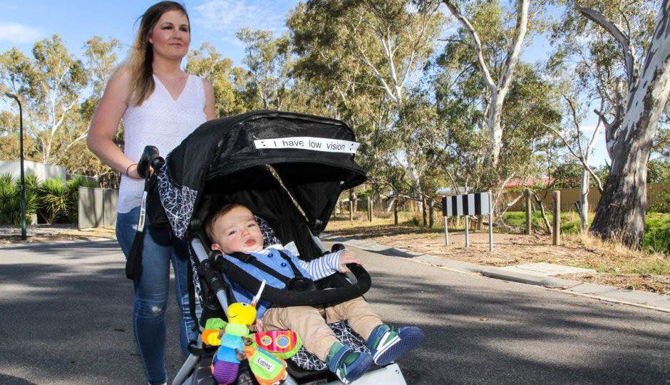
[[[643,71],[629,95],[591,231],[639,249],[646,215],[646,167],[659,116],[670,92],[670,0],[659,10]]]

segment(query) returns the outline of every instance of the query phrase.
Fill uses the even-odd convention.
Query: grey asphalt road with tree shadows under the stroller
[[[670,314],[361,252],[408,384],[670,384]],[[0,384],[146,384],[112,241],[0,248]],[[168,370],[182,363],[168,307]]]

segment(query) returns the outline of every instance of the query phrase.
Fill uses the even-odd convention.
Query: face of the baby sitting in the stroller
[[[226,254],[255,252],[263,248],[263,235],[247,207],[236,206],[214,222],[212,249]]]

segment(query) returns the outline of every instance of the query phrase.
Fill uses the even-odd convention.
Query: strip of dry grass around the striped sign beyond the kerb
[[[410,225],[411,215],[401,213],[401,225],[393,225],[393,217],[375,218],[368,222],[365,213],[353,222],[340,215],[331,220],[327,232],[344,237],[369,240],[381,245],[401,247],[450,260],[472,262],[478,265],[510,266],[523,263],[549,262],[559,265],[585,267],[595,270],[592,274],[562,276],[584,282],[607,284],[624,289],[644,290],[670,295],[670,257],[648,252],[629,250],[621,242],[605,242],[588,232],[563,235],[561,246],[552,246],[547,235],[518,235],[496,233],[494,249],[488,252],[488,234],[471,232],[472,246],[463,247],[463,222],[449,224],[449,246],[444,244],[441,218],[436,218],[436,228],[428,229]]]

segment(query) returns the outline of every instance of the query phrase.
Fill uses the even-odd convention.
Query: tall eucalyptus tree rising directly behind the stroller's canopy
[[[442,24],[436,2],[413,6],[402,0],[307,1],[289,16],[303,56],[301,73],[331,85],[339,98],[336,111],[349,118],[360,138],[375,141],[361,150],[371,150],[368,160],[384,170],[377,175],[388,177],[396,193],[409,178],[409,190],[421,195],[411,150],[390,138],[406,129],[408,86],[421,77]],[[316,75],[319,69],[324,75]]]

